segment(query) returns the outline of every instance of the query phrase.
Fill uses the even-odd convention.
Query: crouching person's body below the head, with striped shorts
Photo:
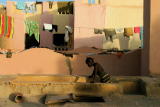
[[[91,75],[93,79],[95,79],[96,76],[99,76],[100,81],[103,83],[108,82],[110,80],[110,75],[104,71],[104,69],[100,64],[94,63],[93,66],[94,66],[94,70]]]

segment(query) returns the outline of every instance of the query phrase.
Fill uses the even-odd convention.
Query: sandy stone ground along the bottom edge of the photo
[[[0,107],[160,107],[160,98],[123,95],[106,97],[105,102],[74,102],[47,106],[40,103],[38,97],[32,97],[21,104],[16,104],[8,99],[0,99]]]

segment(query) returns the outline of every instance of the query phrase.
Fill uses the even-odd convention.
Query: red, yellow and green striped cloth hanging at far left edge
[[[10,16],[1,15],[0,17],[0,37],[5,36],[12,38],[13,35],[13,18]]]

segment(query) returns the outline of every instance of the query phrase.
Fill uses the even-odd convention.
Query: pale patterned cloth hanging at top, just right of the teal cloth
[[[36,3],[25,2],[25,13],[34,13],[34,12],[36,12]]]

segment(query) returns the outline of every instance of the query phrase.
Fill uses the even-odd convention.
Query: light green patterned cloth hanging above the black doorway
[[[26,33],[29,34],[29,36],[32,36],[34,34],[35,39],[39,42],[39,25],[37,22],[26,20]]]

